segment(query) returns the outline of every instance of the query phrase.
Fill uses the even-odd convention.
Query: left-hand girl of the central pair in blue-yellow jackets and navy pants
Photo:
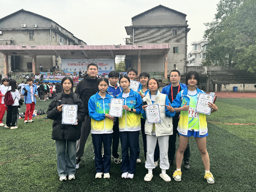
[[[89,116],[91,117],[91,136],[95,153],[95,178],[110,178],[109,170],[111,165],[111,144],[113,123],[115,117],[108,115],[112,96],[106,93],[108,79],[98,80],[99,91],[90,97],[88,102]],[[102,142],[104,155],[102,157]]]

